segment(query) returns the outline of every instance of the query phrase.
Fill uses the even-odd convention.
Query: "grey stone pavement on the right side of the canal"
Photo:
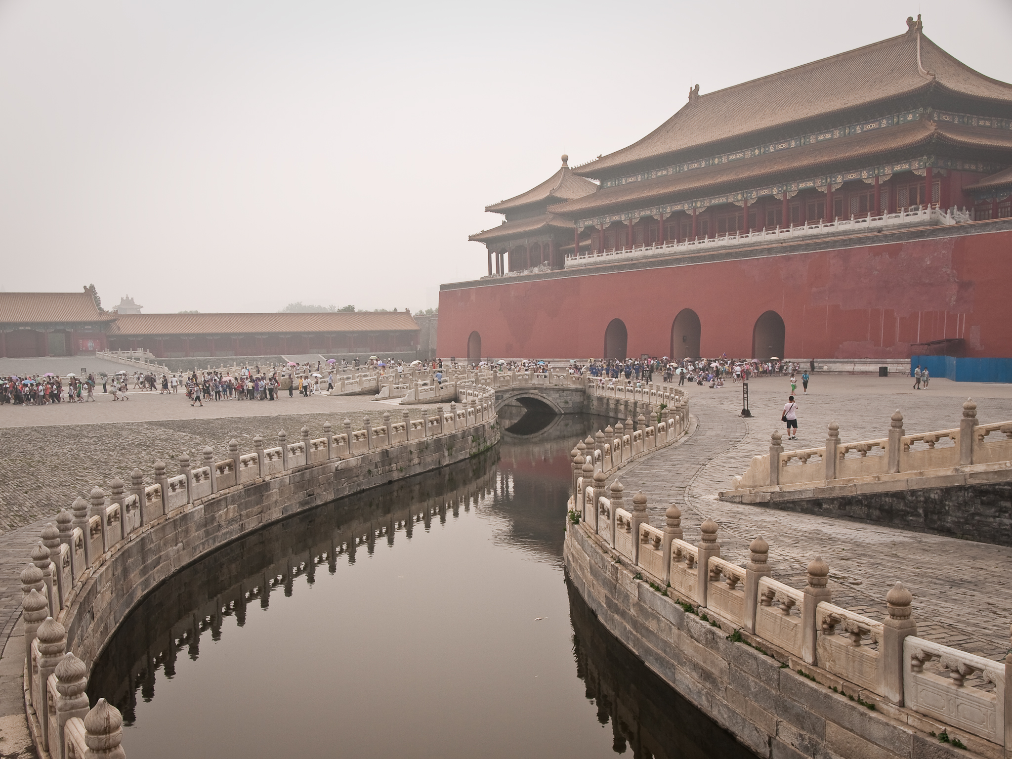
[[[823,445],[832,419],[840,424],[841,441],[884,437],[897,408],[908,432],[950,429],[958,426],[968,395],[980,421],[1012,419],[1012,389],[1005,386],[967,388],[932,380],[928,391],[914,393],[903,377],[813,378],[810,395],[797,397],[800,439],[784,440],[787,449]],[[691,542],[699,539],[700,522],[712,517],[720,525],[722,555],[736,564],[748,561],[748,544],[761,534],[770,544],[773,576],[796,588],[805,586],[808,563],[822,555],[830,566],[834,603],[872,618],[882,618],[886,593],[903,582],[914,594],[921,637],[991,659],[1004,657],[1012,621],[1012,585],[1004,570],[1012,549],[718,500],[716,493],[729,489],[753,455],[766,452],[772,430],[782,431],[787,385],[785,378],[750,383],[752,419],[738,416],[741,386],[689,388],[689,410],[698,423],[694,435],[623,470],[625,499],[643,490],[656,526],[664,525],[668,504],[677,503]]]

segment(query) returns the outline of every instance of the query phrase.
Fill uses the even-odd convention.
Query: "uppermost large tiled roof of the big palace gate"
[[[1012,104],[1012,85],[964,66],[916,31],[916,26],[864,48],[690,97],[681,110],[650,135],[581,166],[577,173],[611,175],[627,164],[848,111],[929,87]],[[928,73],[922,73],[922,68]]]

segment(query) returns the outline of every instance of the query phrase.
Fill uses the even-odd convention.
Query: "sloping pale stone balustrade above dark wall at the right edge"
[[[978,424],[968,399],[953,429],[908,435],[897,411],[888,437],[844,443],[832,422],[789,451],[776,431],[731,487],[722,500],[1012,545],[1012,422]]]

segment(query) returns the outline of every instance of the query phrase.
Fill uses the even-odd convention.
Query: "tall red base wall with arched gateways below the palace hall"
[[[983,232],[983,231],[982,231]],[[500,283],[501,282],[501,283]],[[963,355],[1012,356],[1012,231],[933,237],[750,259],[443,289],[438,354],[600,357],[612,319],[626,355],[671,354],[682,309],[699,316],[699,352],[752,356],[766,311],[790,358],[907,358],[916,342],[963,338]]]

